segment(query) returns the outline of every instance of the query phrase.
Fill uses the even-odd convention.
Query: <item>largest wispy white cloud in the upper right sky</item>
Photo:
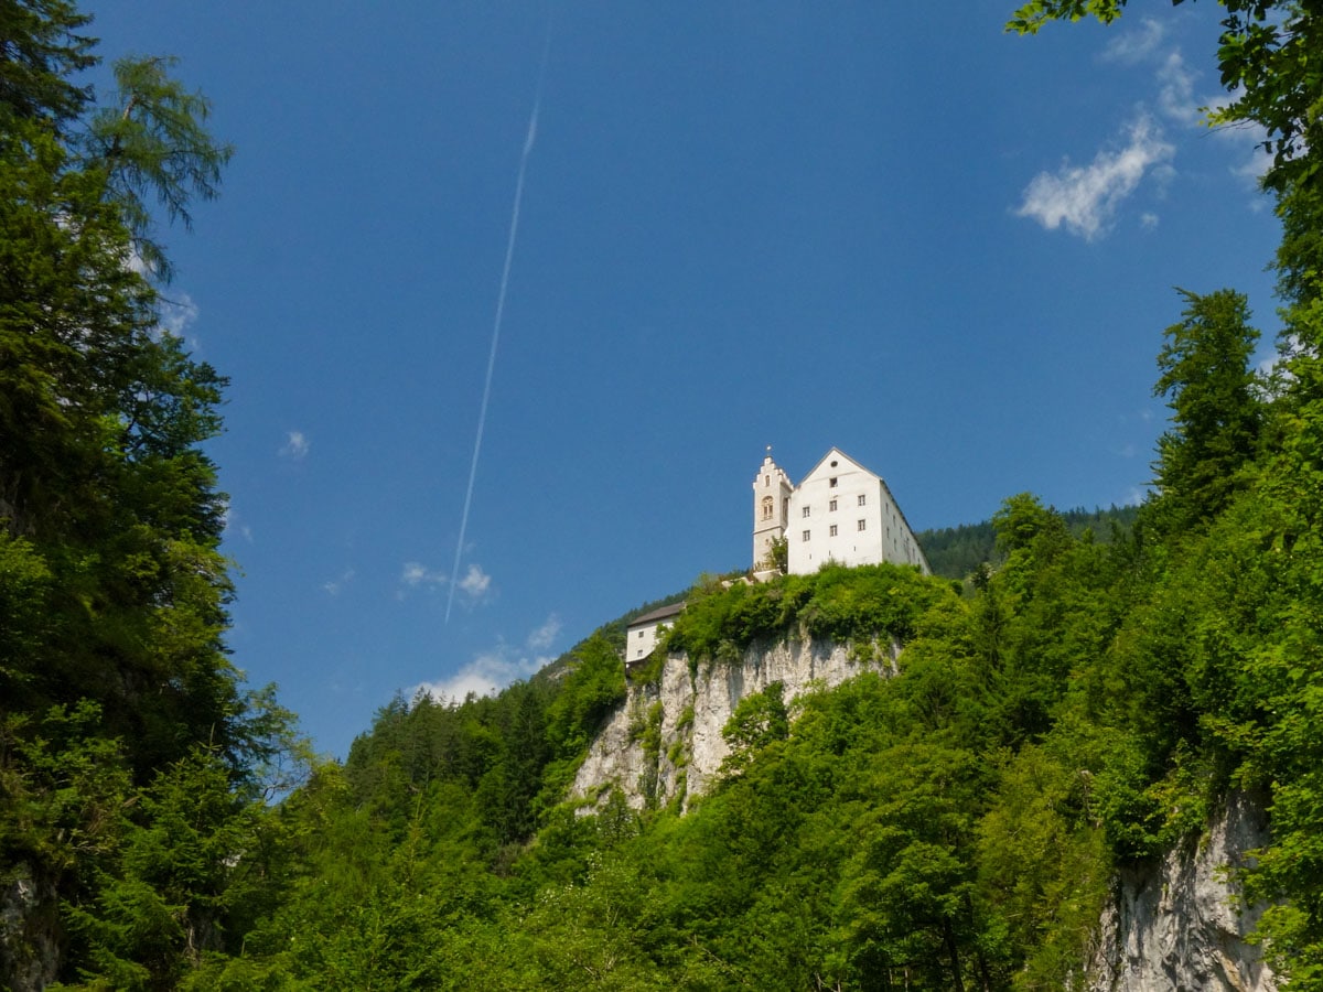
[[[1144,173],[1170,160],[1175,151],[1163,140],[1162,128],[1140,115],[1119,151],[1101,151],[1089,165],[1066,163],[1054,173],[1035,176],[1016,216],[1032,217],[1048,230],[1065,225],[1072,234],[1093,241],[1106,233],[1117,208],[1135,192]]]

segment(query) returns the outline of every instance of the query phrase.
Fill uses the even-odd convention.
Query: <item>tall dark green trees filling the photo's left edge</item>
[[[157,320],[148,204],[229,149],[168,62],[77,85],[86,22],[0,3],[0,985],[172,988],[266,905],[292,737],[222,644],[225,382]]]

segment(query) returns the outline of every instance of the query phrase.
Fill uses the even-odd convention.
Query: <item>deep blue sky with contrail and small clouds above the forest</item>
[[[746,566],[766,444],[917,529],[1138,500],[1174,287],[1271,345],[1254,135],[1199,123],[1215,5],[1011,8],[91,3],[237,149],[169,319],[232,378],[250,681],[343,755],[397,690],[527,677]]]

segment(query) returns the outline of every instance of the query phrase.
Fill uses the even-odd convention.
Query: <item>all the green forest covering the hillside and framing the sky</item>
[[[1234,878],[1270,903],[1262,951],[1323,988],[1323,15],[1224,8],[1218,119],[1275,153],[1274,370],[1242,295],[1181,292],[1155,491],[1107,540],[1021,493],[967,582],[688,590],[660,651],[695,669],[777,638],[902,652],[746,697],[681,816],[566,800],[627,690],[618,623],[495,697],[396,700],[344,763],[245,689],[200,447],[224,378],[159,328],[151,222],[212,196],[228,148],[168,61],[95,99],[73,7],[0,3],[0,984],[1078,987],[1115,872],[1236,792],[1270,816]]]

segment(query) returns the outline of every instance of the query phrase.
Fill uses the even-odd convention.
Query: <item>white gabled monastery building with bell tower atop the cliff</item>
[[[791,575],[818,571],[824,562],[917,565],[927,559],[885,480],[832,448],[799,485],[771,459],[753,480],[753,567],[770,571],[771,544],[786,538]]]

